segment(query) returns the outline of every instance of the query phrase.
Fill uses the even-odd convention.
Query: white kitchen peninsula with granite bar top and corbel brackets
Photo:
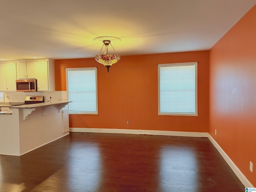
[[[11,106],[11,114],[0,114],[0,154],[21,156],[69,134],[68,103]]]

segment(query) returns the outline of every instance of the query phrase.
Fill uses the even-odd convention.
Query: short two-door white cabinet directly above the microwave
[[[17,62],[17,78],[36,78],[36,61]]]

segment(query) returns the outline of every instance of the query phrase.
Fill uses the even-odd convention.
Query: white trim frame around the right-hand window
[[[182,66],[182,65],[195,65],[195,113],[161,113],[160,112],[160,67],[166,66]],[[170,64],[158,64],[158,115],[171,115],[171,116],[198,116],[198,62],[185,62],[185,63],[170,63]]]

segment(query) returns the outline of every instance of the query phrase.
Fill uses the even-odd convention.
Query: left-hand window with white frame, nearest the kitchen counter
[[[66,68],[70,114],[98,114],[97,68]]]

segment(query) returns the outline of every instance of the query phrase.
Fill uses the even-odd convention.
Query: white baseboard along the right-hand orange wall
[[[240,171],[240,169],[234,164],[234,162],[229,158],[229,156],[224,152],[224,150],[219,146],[219,144],[212,138],[210,134],[208,134],[208,139],[212,142],[214,147],[218,150],[224,160],[228,163],[230,168],[236,174],[238,179],[244,184],[247,188],[254,188],[254,186],[250,183],[250,181],[244,176],[244,174]]]

